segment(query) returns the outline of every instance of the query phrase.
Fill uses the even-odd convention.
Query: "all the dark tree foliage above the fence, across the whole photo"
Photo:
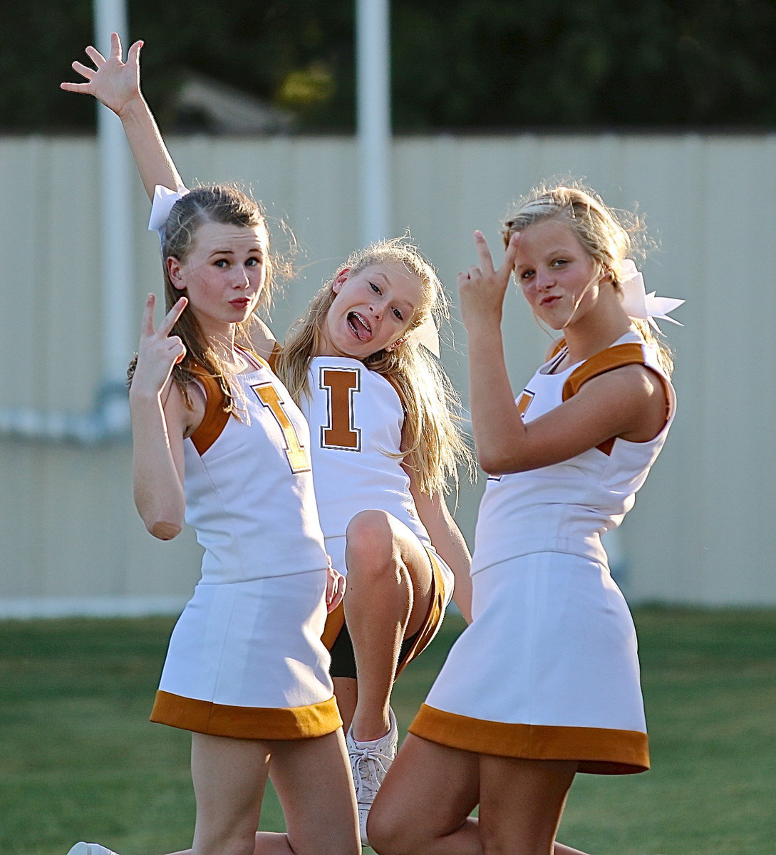
[[[162,127],[191,72],[354,127],[354,0],[129,0]],[[776,0],[393,0],[398,132],[776,127]],[[62,93],[91,0],[26,0],[0,31],[0,131],[84,130]]]

